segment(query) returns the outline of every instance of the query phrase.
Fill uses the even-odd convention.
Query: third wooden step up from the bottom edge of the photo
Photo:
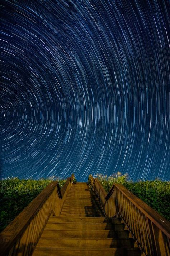
[[[127,230],[44,230],[41,238],[128,238]]]

